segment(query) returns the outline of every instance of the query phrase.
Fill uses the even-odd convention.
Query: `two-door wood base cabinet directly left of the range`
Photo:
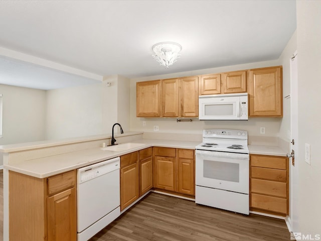
[[[194,150],[154,147],[154,187],[195,195]]]

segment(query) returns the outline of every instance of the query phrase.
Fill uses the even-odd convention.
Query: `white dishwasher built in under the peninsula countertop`
[[[77,170],[77,239],[85,241],[120,215],[120,158]]]

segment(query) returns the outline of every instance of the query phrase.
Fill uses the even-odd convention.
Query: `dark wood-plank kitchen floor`
[[[0,240],[3,239],[3,171],[0,171]],[[249,216],[148,194],[90,241],[261,241],[290,240],[282,219]],[[82,241],[82,240],[81,240]]]

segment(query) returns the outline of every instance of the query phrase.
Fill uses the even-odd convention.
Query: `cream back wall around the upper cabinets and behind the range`
[[[219,68],[203,69],[197,71],[188,71],[167,75],[150,76],[135,78],[130,80],[130,130],[153,132],[153,126],[159,126],[159,133],[189,133],[202,134],[203,129],[211,128],[230,128],[247,130],[250,136],[262,136],[260,127],[265,127],[264,137],[277,137],[280,131],[282,118],[249,118],[249,121],[199,121],[193,118],[192,123],[177,123],[176,118],[142,118],[136,117],[136,82],[154,79],[165,79],[182,76],[192,76],[199,74],[220,73],[226,71],[243,70],[250,68],[260,68],[280,65],[279,60],[264,61],[258,63],[249,63],[233,66],[224,66]],[[142,121],[146,126],[142,126]],[[175,138],[172,136],[171,138]]]

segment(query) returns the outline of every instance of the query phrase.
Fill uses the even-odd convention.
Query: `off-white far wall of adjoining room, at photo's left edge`
[[[0,93],[3,94],[3,138],[0,145],[44,140],[46,91],[0,84]]]

